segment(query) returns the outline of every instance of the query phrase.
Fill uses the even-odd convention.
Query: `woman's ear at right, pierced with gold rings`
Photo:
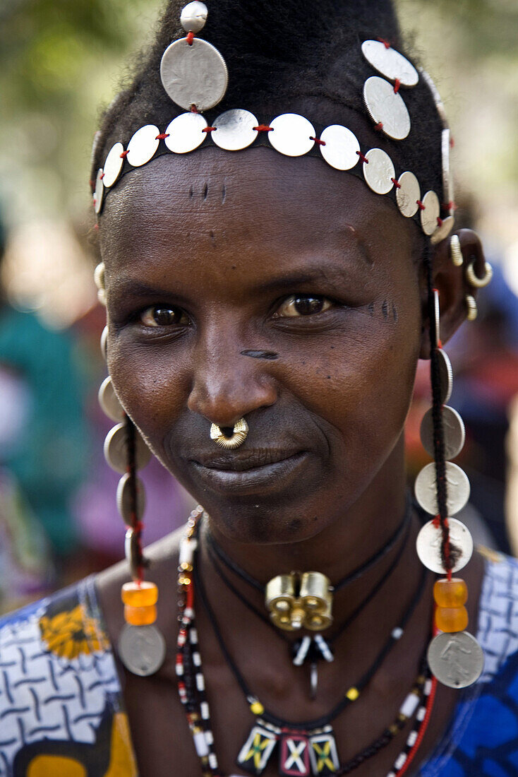
[[[456,267],[451,254],[451,237],[444,239],[433,247],[433,287],[439,291],[440,306],[440,340],[447,343],[457,332],[461,323],[468,315],[466,297],[476,298],[477,289],[469,284],[466,270],[472,265],[475,274],[483,277],[485,274],[484,252],[478,235],[471,229],[461,229],[454,232],[461,242],[463,262]],[[422,335],[419,358],[430,358],[428,291],[426,279],[423,277],[422,287]]]

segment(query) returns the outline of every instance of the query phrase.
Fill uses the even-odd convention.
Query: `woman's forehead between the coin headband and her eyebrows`
[[[263,147],[158,157],[110,192],[99,234],[110,272],[164,253],[194,261],[205,248],[208,263],[214,253],[278,262],[323,245],[341,257],[344,242],[372,263],[381,250],[409,255],[413,242],[394,204],[356,176]]]

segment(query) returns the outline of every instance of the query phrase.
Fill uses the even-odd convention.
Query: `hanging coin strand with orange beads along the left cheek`
[[[97,272],[99,267],[96,268],[96,280],[100,277],[100,272]],[[101,336],[105,360],[107,339],[106,326]],[[122,473],[116,502],[126,524],[124,553],[132,578],[130,583],[123,584],[120,593],[126,624],[120,632],[118,653],[128,671],[146,677],[155,674],[165,658],[165,639],[155,626],[158,587],[144,580],[144,568],[148,562],[144,559],[141,545],[145,493],[141,479],[137,478],[137,469],[148,464],[151,451],[120,404],[110,376],[103,380],[99,389],[99,404],[111,420],[118,422],[106,435],[104,455],[110,467]]]

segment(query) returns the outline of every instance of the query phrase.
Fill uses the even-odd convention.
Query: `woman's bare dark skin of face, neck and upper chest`
[[[415,225],[387,197],[318,159],[211,149],[162,157],[126,176],[107,200],[100,237],[116,392],[155,455],[203,503],[228,554],[263,583],[294,569],[336,581],[383,546],[404,512],[403,425],[416,361],[429,357]],[[461,242],[465,256],[481,262],[475,235],[463,231]],[[436,250],[434,274],[447,342],[464,319],[467,291],[447,242]],[[210,423],[232,427],[242,416],[245,443],[222,454]],[[413,517],[395,572],[337,641],[335,661],[321,667],[315,701],[306,670],[293,667],[286,644],[224,587],[202,542],[200,573],[228,648],[268,709],[311,720],[356,683],[418,585],[417,531]],[[120,667],[143,777],[201,773],[176,690],[178,541],[172,535],[149,554],[165,664],[151,678]],[[336,625],[397,550],[336,594]],[[480,561],[462,576],[473,632]],[[99,576],[114,642],[127,579],[125,565]],[[262,608],[259,594],[232,581]],[[342,762],[395,719],[412,688],[429,641],[432,585],[430,573],[402,640],[333,723]],[[199,601],[196,616],[216,751],[222,771],[233,774],[253,716]],[[456,699],[440,688],[418,761]],[[407,734],[356,775],[387,773]],[[273,758],[264,774],[277,773]]]

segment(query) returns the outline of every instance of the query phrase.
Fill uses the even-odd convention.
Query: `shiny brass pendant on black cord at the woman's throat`
[[[266,584],[266,608],[286,631],[323,631],[332,624],[332,585],[321,572],[277,575]]]

